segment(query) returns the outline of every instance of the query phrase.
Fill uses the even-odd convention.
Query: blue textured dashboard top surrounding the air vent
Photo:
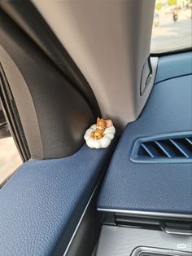
[[[192,76],[154,86],[142,115],[124,130],[98,198],[98,208],[192,214],[189,164],[130,161],[136,139],[192,130]]]

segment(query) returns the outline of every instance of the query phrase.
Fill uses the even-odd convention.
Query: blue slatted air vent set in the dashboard
[[[192,162],[192,132],[137,139],[132,161]]]

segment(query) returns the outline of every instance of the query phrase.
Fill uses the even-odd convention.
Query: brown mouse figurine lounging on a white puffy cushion
[[[97,119],[97,124],[85,131],[84,139],[89,148],[107,148],[114,138],[116,129],[110,119]]]

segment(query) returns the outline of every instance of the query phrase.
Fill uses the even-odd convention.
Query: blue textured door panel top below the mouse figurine
[[[49,255],[63,232],[66,247],[112,148],[21,166],[0,190],[0,255]]]

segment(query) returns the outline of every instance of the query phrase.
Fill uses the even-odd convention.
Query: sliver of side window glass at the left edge
[[[21,164],[22,160],[11,137],[0,99],[0,188]]]

